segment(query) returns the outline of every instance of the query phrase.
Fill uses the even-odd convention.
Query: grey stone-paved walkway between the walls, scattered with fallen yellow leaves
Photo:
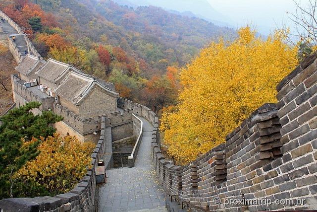
[[[106,184],[99,190],[100,212],[167,212],[165,196],[151,164],[153,126],[146,119],[140,119],[143,138],[135,166],[106,170]]]

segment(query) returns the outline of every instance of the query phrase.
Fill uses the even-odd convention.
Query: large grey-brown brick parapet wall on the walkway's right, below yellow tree
[[[161,154],[154,116],[153,163],[166,194],[208,211],[316,210],[316,58],[315,53],[279,83],[276,105],[264,104],[225,143],[186,166]],[[149,112],[141,116],[153,119]],[[272,204],[257,204],[258,198]]]

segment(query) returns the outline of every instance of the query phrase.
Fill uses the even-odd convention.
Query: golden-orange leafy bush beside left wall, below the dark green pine
[[[24,141],[31,145],[37,139]],[[41,138],[39,155],[28,161],[14,176],[28,188],[44,188],[50,195],[66,193],[86,174],[90,166],[90,154],[95,144],[82,143],[76,137],[61,137],[54,134],[47,139]],[[25,190],[20,196],[32,196]]]

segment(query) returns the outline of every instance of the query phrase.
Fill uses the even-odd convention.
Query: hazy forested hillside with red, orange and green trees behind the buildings
[[[178,70],[212,40],[235,31],[159,7],[111,0],[14,0],[1,9],[44,58],[115,83],[121,96],[159,112],[177,103]]]

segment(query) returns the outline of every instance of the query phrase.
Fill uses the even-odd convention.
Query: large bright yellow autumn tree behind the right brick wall
[[[180,103],[165,110],[160,125],[178,163],[224,142],[255,109],[276,102],[275,86],[297,65],[297,49],[285,44],[281,32],[266,40],[255,33],[245,27],[231,44],[211,43],[181,71]]]

